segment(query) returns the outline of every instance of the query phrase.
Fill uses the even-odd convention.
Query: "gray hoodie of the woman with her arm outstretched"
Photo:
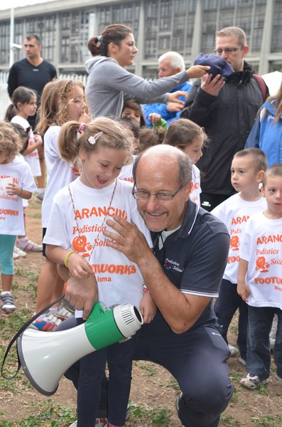
[[[94,117],[120,117],[124,100],[129,98],[140,104],[166,102],[168,92],[188,80],[183,70],[171,77],[147,82],[107,56],[90,58],[85,68],[89,74],[85,92]]]

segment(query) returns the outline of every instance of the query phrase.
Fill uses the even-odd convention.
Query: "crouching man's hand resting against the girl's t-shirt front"
[[[114,221],[107,219],[106,223],[118,233],[116,234],[108,230],[103,231],[104,236],[112,239],[112,241],[107,241],[107,245],[110,248],[124,253],[129,260],[137,265],[146,256],[154,257],[151,249],[148,247],[146,238],[133,222],[129,223],[119,216],[114,216]]]

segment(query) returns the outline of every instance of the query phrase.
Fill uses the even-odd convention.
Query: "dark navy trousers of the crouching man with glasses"
[[[66,322],[69,321],[63,324]],[[213,326],[191,331],[185,337],[177,334],[149,336],[141,330],[134,353],[134,359],[160,364],[178,381],[183,391],[178,416],[185,427],[218,426],[220,413],[227,408],[233,393],[227,365],[229,356],[227,344]],[[65,373],[75,385],[80,369],[77,363]],[[109,385],[104,377],[98,417],[107,416],[107,404]],[[91,402],[89,405],[93,411]],[[110,412],[109,422],[112,422]]]

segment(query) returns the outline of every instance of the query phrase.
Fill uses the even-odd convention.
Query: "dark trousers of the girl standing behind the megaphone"
[[[81,319],[71,317],[58,330],[65,330],[81,324]],[[93,427],[98,416],[101,382],[104,379],[106,363],[109,369],[107,384],[107,417],[109,423],[124,426],[126,408],[131,386],[131,365],[136,337],[126,342],[87,354],[65,373],[77,389],[77,427]]]

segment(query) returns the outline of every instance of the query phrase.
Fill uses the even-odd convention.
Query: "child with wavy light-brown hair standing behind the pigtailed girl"
[[[67,164],[60,157],[58,151],[58,135],[61,126],[68,120],[77,122],[90,121],[87,115],[85,102],[85,86],[79,80],[60,79],[53,80],[43,89],[40,108],[38,112],[39,121],[36,127],[40,135],[44,135],[44,153],[47,169],[47,184],[42,203],[42,228],[43,237],[48,224],[52,202],[57,191],[79,176],[75,164]],[[67,144],[67,141],[65,141]],[[64,281],[60,278],[56,263],[53,263],[45,255],[43,244],[43,256],[45,264],[40,271],[36,296],[36,312],[40,312],[63,294]],[[63,307],[61,307],[63,309]],[[60,310],[60,309],[59,309]],[[61,314],[69,314],[63,309],[58,313],[58,305],[50,310],[50,313],[41,315],[33,322],[38,330],[54,330],[62,321]]]

